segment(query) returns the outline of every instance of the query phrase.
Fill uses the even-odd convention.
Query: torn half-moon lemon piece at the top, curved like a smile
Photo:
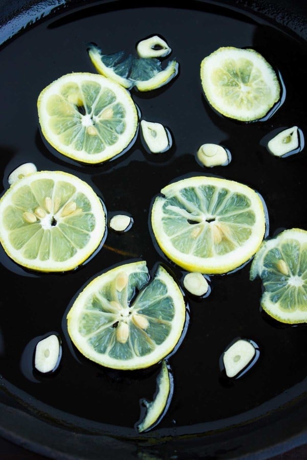
[[[90,59],[97,72],[111,78],[127,89],[136,87],[139,91],[150,91],[166,85],[178,74],[176,59],[168,62],[163,69],[157,58],[142,58],[119,51],[103,54],[95,43],[87,48]]]

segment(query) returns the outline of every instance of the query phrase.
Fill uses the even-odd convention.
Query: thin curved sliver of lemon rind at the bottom
[[[143,421],[137,425],[139,433],[147,431],[149,428],[153,428],[153,426],[161,420],[169,400],[170,390],[171,385],[169,371],[167,369],[166,362],[163,360],[161,371],[157,378],[157,394],[153,401],[143,401],[147,411]]]

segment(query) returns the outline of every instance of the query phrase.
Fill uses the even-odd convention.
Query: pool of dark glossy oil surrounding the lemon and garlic
[[[132,5],[132,4],[131,4]],[[156,391],[159,363],[140,371],[117,371],[82,356],[67,333],[66,315],[76,295],[97,274],[115,264],[145,260],[151,270],[165,264],[181,283],[184,272],[159,250],[150,233],[152,199],[170,181],[186,174],[214,174],[255,189],[268,209],[268,236],[277,229],[306,229],[306,152],[286,158],[270,155],[261,142],[274,130],[298,126],[306,133],[303,93],[305,44],[267,24],[226,7],[189,2],[189,8],[147,3],[116,10],[112,4],[66,8],[47,16],[6,42],[1,50],[0,152],[3,190],[21,163],[38,170],[62,170],[90,183],[103,200],[108,218],[133,217],[124,233],[107,230],[96,254],[73,272],[29,272],[1,256],[0,372],[4,387],[30,410],[49,420],[108,433],[135,436],[140,401]],[[86,51],[95,42],[104,54],[160,35],[176,58],[179,73],[160,89],[131,90],[140,118],[171,132],[172,144],[150,154],[140,133],[123,155],[98,166],[80,165],[42,139],[37,97],[53,80],[71,72],[96,72]],[[241,123],[220,116],[206,102],[200,63],[222,46],[253,48],[282,79],[284,100],[270,118]],[[205,168],[196,160],[204,143],[231,152],[227,166]],[[306,326],[287,326],[260,311],[260,280],[249,280],[250,263],[210,277],[210,295],[185,294],[187,323],[176,352],[168,358],[173,395],[155,436],[201,433],[244,423],[278,408],[307,389]],[[51,333],[61,340],[61,360],[51,374],[33,367],[35,343]],[[220,357],[234,337],[255,342],[255,365],[227,384]],[[82,420],[82,423],[81,423]],[[85,428],[84,428],[85,429]],[[150,432],[148,433],[148,436]],[[145,434],[144,434],[145,436]]]

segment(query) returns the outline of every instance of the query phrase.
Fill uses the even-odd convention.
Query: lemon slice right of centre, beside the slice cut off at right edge
[[[264,238],[264,205],[242,183],[196,176],[161,193],[151,210],[153,234],[164,254],[187,271],[231,271],[248,261]]]

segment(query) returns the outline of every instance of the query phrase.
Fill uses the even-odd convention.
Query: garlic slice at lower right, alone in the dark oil
[[[235,377],[254,358],[256,349],[251,342],[239,339],[224,353],[223,362],[226,375]]]

